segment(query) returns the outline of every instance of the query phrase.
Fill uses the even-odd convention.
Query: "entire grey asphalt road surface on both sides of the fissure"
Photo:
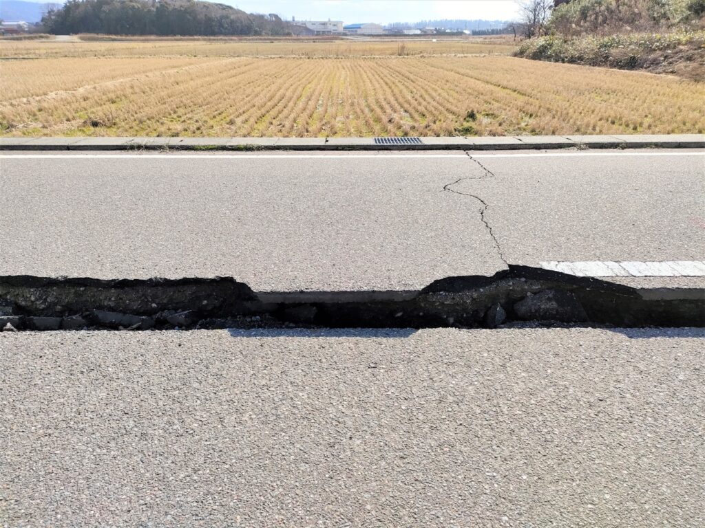
[[[0,275],[417,289],[703,254],[702,158],[450,156],[0,156]],[[2,332],[0,526],[699,527],[704,338]]]

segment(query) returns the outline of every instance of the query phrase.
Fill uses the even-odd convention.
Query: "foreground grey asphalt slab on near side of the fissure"
[[[694,329],[0,334],[8,526],[702,526]]]

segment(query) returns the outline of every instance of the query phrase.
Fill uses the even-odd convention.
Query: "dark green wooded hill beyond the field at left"
[[[68,0],[42,18],[53,34],[282,35],[290,27],[276,15],[250,15],[198,0]]]

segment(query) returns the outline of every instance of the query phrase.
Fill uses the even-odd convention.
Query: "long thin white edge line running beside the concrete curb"
[[[214,160],[271,160],[271,159],[411,159],[411,158],[596,158],[606,156],[705,156],[705,152],[560,152],[560,153],[525,153],[525,154],[0,154],[0,159],[143,159],[143,160],[189,160],[189,159],[214,159]]]

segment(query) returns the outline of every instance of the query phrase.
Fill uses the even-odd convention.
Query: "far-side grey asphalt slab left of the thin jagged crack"
[[[240,156],[5,156],[0,275],[403,291],[505,269],[479,201],[443,191],[484,175],[462,151]]]

